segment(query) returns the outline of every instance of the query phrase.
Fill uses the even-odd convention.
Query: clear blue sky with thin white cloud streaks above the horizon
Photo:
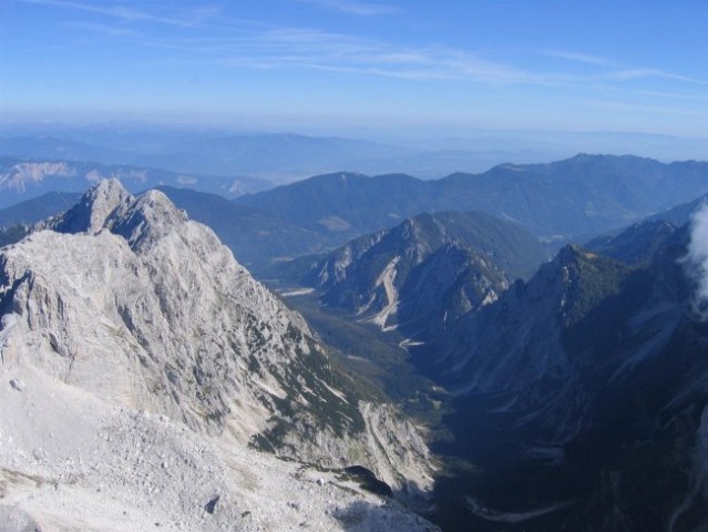
[[[0,0],[0,119],[708,136],[706,1]]]

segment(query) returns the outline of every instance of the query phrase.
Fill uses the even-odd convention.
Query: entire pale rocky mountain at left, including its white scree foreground
[[[43,227],[0,253],[8,530],[434,530],[342,469],[422,502],[413,426],[211,229],[112,180]]]

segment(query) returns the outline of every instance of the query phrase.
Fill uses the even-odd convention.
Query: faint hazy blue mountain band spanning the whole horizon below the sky
[[[341,127],[338,136],[199,126],[0,124],[0,157],[94,161],[177,173],[258,177],[277,184],[337,171],[440,178],[503,163],[543,163],[592,153],[660,161],[706,160],[705,139],[613,132]],[[213,191],[209,191],[213,192]]]

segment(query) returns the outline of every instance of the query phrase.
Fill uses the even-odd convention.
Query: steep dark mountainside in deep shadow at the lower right
[[[454,397],[455,439],[438,450],[483,470],[440,488],[460,498],[468,525],[708,525],[706,269],[687,258],[705,249],[705,233],[650,234],[656,245],[636,228],[623,237],[629,249],[656,249],[640,265],[566,247],[529,283],[419,348],[421,366]]]

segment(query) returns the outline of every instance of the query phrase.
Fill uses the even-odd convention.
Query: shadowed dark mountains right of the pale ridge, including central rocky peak
[[[424,214],[281,275],[316,288],[330,320],[409,339],[433,386],[407,401],[441,410],[449,431],[431,443],[449,468],[434,497],[444,530],[704,530],[706,270],[689,258],[706,245],[704,205],[565,246],[551,262],[510,222]],[[486,268],[455,258],[474,256]],[[458,277],[459,264],[475,275]],[[481,279],[494,297],[475,290]],[[476,299],[462,305],[460,294]]]

